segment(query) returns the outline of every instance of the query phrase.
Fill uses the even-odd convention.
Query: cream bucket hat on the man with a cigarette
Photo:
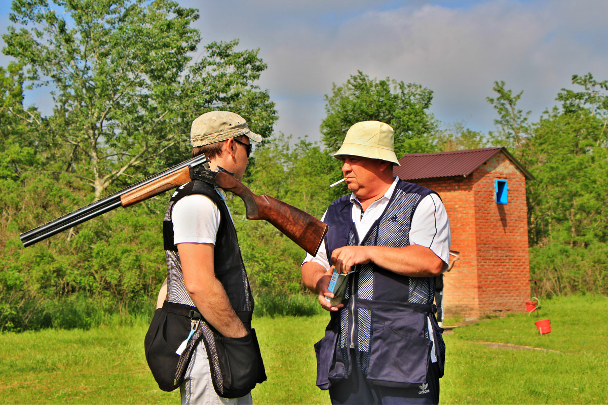
[[[335,158],[344,155],[386,160],[399,165],[395,155],[395,135],[389,124],[380,121],[361,121],[348,129],[344,143],[334,154]]]

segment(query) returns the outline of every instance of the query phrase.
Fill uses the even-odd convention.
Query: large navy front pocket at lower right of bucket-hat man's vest
[[[422,327],[426,327],[425,315],[374,311],[373,318],[375,319],[367,372],[370,383],[387,387],[407,387],[410,384],[426,382],[432,342],[424,338],[424,335],[412,333],[412,329],[424,331]]]

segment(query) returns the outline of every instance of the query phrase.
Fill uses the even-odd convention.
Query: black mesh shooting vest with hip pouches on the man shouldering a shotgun
[[[178,248],[174,245],[171,213],[175,203],[191,194],[209,197],[219,209],[219,228],[213,255],[215,277],[223,285],[230,305],[249,331],[243,338],[227,338],[215,330],[198,312],[185,288]],[[179,386],[186,367],[192,361],[193,350],[199,347],[202,339],[209,357],[215,392],[226,398],[246,395],[256,383],[266,379],[266,373],[255,330],[251,327],[254,299],[238,246],[237,231],[226,203],[209,183],[193,180],[181,186],[169,201],[163,235],[167,259],[167,299],[162,309],[154,313],[145,338],[146,359],[154,378],[163,390],[171,391]],[[186,346],[181,355],[176,353],[180,344]]]

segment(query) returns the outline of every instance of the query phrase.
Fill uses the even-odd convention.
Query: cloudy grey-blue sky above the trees
[[[430,112],[444,125],[495,129],[494,81],[523,95],[536,121],[572,75],[608,79],[604,0],[178,0],[199,9],[204,44],[240,39],[268,64],[258,85],[276,103],[275,132],[319,141],[324,95],[361,70],[434,92]],[[9,24],[0,0],[0,32]],[[0,40],[0,46],[4,43]],[[0,55],[5,66],[9,58]],[[48,91],[26,103],[50,112]]]

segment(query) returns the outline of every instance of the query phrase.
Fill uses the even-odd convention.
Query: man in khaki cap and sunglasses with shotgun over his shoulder
[[[261,139],[243,117],[227,111],[202,114],[190,132],[192,157],[205,154],[211,170],[223,168],[237,179],[242,179],[249,163],[251,142]],[[183,404],[252,403],[250,392],[223,398],[214,389],[230,383],[218,372],[218,356],[223,356],[220,341],[254,353],[251,361],[239,356],[242,367],[231,364],[233,377],[240,368],[253,374],[254,385],[266,379],[251,330],[254,299],[225,200],[221,189],[193,180],[173,194],[165,214],[167,284],[159,294],[161,311],[187,316],[193,330],[205,328],[180,386]]]

